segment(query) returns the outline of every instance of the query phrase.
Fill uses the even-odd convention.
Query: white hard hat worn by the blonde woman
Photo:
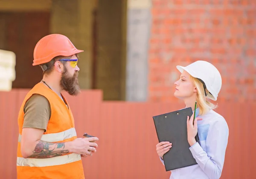
[[[176,67],[180,73],[185,70],[192,77],[202,80],[209,91],[207,97],[214,101],[217,100],[218,93],[221,90],[222,80],[220,72],[214,65],[203,60],[198,60],[190,65],[187,65],[186,67],[179,65]]]

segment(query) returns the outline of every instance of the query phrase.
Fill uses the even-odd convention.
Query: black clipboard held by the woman
[[[197,164],[189,150],[190,145],[187,140],[186,121],[187,116],[190,118],[192,114],[192,108],[184,108],[153,116],[158,141],[172,143],[172,148],[163,155],[166,171]],[[195,139],[200,144],[198,134]]]

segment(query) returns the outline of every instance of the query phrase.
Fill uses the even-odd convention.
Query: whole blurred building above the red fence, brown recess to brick
[[[34,46],[61,33],[84,50],[81,88],[102,89],[105,100],[176,101],[175,66],[207,60],[222,74],[220,100],[253,101],[254,17],[254,0],[0,0],[0,48],[17,54],[14,88],[41,80]]]

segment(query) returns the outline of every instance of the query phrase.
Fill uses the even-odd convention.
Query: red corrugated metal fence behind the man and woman
[[[28,90],[0,92],[0,174],[16,178],[17,115]],[[97,136],[92,157],[83,158],[86,179],[169,179],[156,152],[152,116],[183,108],[173,102],[102,101],[102,91],[64,93],[75,119],[77,136]],[[217,112],[229,126],[229,140],[221,179],[255,179],[255,102],[223,102]]]

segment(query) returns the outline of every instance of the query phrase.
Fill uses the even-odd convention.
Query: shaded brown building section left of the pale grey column
[[[125,100],[126,3],[0,0],[0,48],[17,55],[13,88],[32,88],[41,80],[41,68],[32,66],[34,47],[45,35],[60,33],[84,50],[78,63],[81,88],[102,89],[106,100]]]

